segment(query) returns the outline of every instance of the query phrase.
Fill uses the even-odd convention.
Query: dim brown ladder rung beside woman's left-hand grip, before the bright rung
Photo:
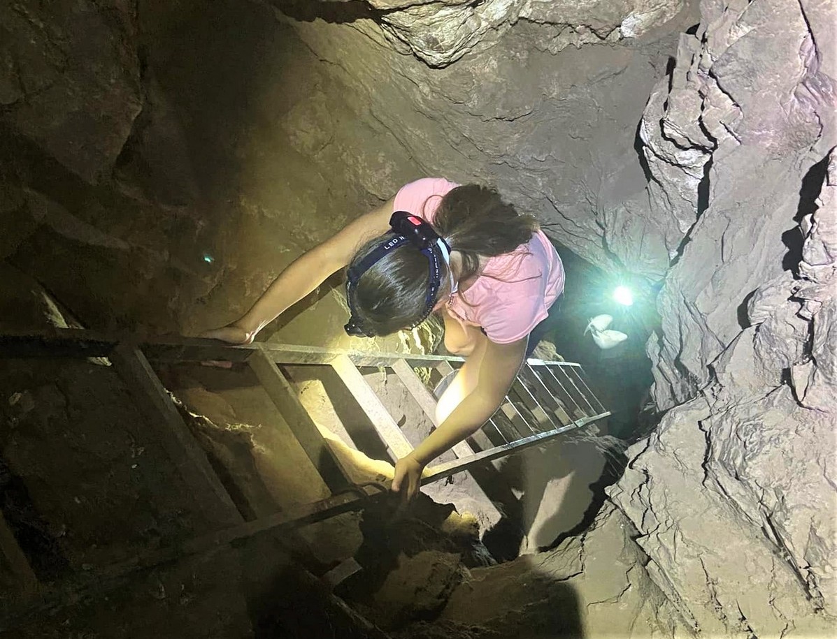
[[[300,442],[302,450],[311,459],[326,486],[332,493],[344,490],[347,484],[352,482],[351,475],[336,458],[326,438],[322,436],[320,429],[273,360],[263,350],[257,350],[250,355],[247,363],[259,378],[270,401],[273,401],[277,410],[285,417],[290,432],[293,432],[296,440]]]

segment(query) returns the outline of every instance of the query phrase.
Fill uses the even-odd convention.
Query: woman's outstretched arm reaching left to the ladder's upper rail
[[[393,215],[394,198],[358,217],[319,246],[303,253],[273,281],[240,319],[220,329],[207,330],[202,337],[235,344],[249,344],[266,325],[307,294],[336,270],[349,263],[367,239],[386,233]]]

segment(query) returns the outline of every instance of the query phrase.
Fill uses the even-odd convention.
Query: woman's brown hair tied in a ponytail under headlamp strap
[[[424,202],[424,207],[427,204]],[[538,230],[535,217],[519,215],[499,193],[476,184],[456,187],[442,196],[433,227],[451,250],[460,252],[460,281],[478,273],[480,255],[493,258],[511,253]],[[389,237],[386,234],[363,244],[349,268]],[[443,264],[442,270],[440,297],[449,293],[447,265]],[[352,300],[355,314],[375,335],[416,325],[427,314],[428,281],[428,258],[419,248],[411,245],[391,251],[358,280]]]

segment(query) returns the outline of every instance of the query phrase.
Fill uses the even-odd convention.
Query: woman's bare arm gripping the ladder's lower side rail
[[[394,491],[401,490],[405,498],[413,498],[419,492],[424,467],[444,451],[470,437],[488,421],[501,405],[520,370],[527,343],[526,337],[511,344],[495,344],[483,340],[475,348],[459,373],[460,376],[477,375],[474,390],[460,401],[424,442],[407,457],[398,460],[392,487]],[[468,366],[472,368],[468,369]]]

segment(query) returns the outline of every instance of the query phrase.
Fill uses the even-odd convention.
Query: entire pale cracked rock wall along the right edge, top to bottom
[[[682,236],[649,344],[670,410],[610,494],[707,636],[834,629],[835,18],[702,3],[640,129]]]

